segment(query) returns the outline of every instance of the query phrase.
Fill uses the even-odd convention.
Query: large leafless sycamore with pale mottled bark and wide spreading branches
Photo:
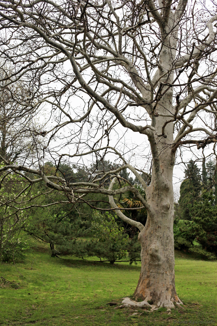
[[[135,297],[155,306],[180,304],[172,176],[181,146],[203,154],[217,141],[216,4],[5,0],[0,7],[1,64],[14,67],[4,87],[19,81],[32,85],[23,110],[31,114],[41,106],[47,121],[46,130],[32,130],[46,142],[35,161],[14,164],[3,157],[0,170],[17,172],[31,185],[45,182],[71,202],[86,201],[89,193],[104,194],[111,209],[139,230],[141,273]],[[141,160],[133,166],[136,144]],[[117,168],[97,176],[96,164],[85,182],[47,175],[43,169],[48,157],[58,171],[66,159],[87,166],[91,155],[98,162],[112,153]],[[147,185],[141,175],[148,166]],[[145,199],[130,182],[123,184],[123,169],[137,178]],[[147,210],[145,225],[118,209],[117,198],[128,190]]]

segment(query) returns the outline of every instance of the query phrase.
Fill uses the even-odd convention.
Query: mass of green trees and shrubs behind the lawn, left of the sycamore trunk
[[[66,182],[73,182],[94,177],[100,178],[103,171],[110,171],[117,167],[109,161],[100,161],[97,166],[92,165],[90,169],[81,167],[76,170],[75,167],[67,164],[54,166],[46,162],[41,169],[50,175],[65,178]],[[129,177],[128,172],[122,171],[121,175],[124,179]],[[106,184],[107,180],[104,181]],[[108,182],[110,182],[109,178]],[[121,183],[125,184],[125,181]],[[12,185],[15,183],[12,182]],[[118,186],[116,184],[114,188]],[[136,185],[136,188],[145,197],[144,190],[139,185]],[[2,259],[6,261],[11,257],[22,257],[22,252],[28,248],[28,244],[24,245],[21,238],[18,238],[22,230],[24,235],[28,234],[38,241],[48,243],[51,248],[51,257],[58,255],[72,255],[80,258],[97,256],[100,260],[108,260],[111,264],[120,259],[127,259],[131,263],[139,260],[141,247],[137,241],[137,229],[130,229],[129,225],[123,224],[114,212],[102,215],[89,207],[88,203],[103,209],[110,207],[103,195],[88,194],[84,199],[85,202],[76,205],[64,203],[68,200],[64,193],[53,192],[44,184],[33,185],[25,194],[27,205],[33,205],[33,207],[19,212],[19,216],[22,216],[19,223],[16,221],[16,215],[15,219],[14,217],[10,219],[12,225],[14,224],[13,230],[10,230],[10,225],[7,226],[11,239],[8,239],[5,227],[2,231],[4,235],[2,239],[7,238],[7,245],[1,241],[1,244],[4,244],[4,252],[3,249],[0,250]],[[58,202],[59,204],[56,204]],[[44,207],[40,207],[41,205]],[[129,192],[123,196],[123,206],[133,208],[140,207],[142,204],[133,193]],[[126,214],[143,224],[146,222],[147,213],[144,209],[128,211]]]

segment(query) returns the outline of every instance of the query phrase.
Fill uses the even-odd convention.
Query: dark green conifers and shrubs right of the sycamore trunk
[[[202,164],[202,176],[191,161],[180,187],[174,222],[174,246],[206,259],[217,256],[217,206],[215,163]],[[200,178],[202,183],[199,184]],[[204,187],[202,188],[202,184]]]

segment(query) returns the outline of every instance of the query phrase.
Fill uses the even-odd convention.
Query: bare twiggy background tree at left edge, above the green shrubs
[[[25,162],[27,157],[34,159],[38,143],[42,143],[34,130],[36,125],[43,128],[42,123],[36,122],[34,86],[20,80],[11,82],[13,73],[13,67],[0,63],[0,155],[8,163]]]

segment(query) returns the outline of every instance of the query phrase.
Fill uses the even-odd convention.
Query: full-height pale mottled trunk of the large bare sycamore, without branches
[[[162,75],[162,83],[169,82],[172,85],[173,72],[170,74],[166,72],[171,69],[175,58],[177,28],[173,26],[173,20],[171,22],[171,26],[168,21],[161,27],[164,45],[159,59],[159,75]],[[178,110],[179,99],[176,109],[172,102],[173,88],[164,86],[156,106],[157,114],[155,113],[155,118],[152,118],[152,126],[157,132],[155,137],[149,137],[153,165],[152,181],[146,188],[146,199],[152,209],[148,212],[145,228],[138,237],[142,247],[141,273],[134,293],[136,298],[140,297],[146,302],[165,307],[174,307],[174,303],[181,303],[176,294],[174,272],[172,176],[175,153],[171,150],[173,119],[167,117],[168,112],[175,114],[175,110]]]

